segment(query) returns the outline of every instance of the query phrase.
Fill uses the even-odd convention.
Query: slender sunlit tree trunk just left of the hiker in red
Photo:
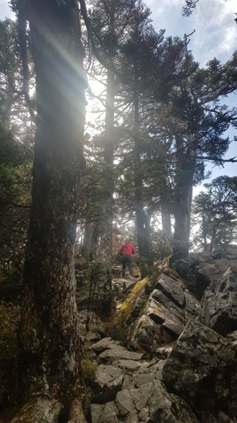
[[[105,102],[105,192],[100,224],[99,259],[103,263],[105,277],[98,295],[101,296],[101,311],[103,314],[111,312],[112,288],[112,259],[113,259],[113,154],[114,154],[114,115],[115,115],[115,77],[111,71],[107,74],[106,102]]]

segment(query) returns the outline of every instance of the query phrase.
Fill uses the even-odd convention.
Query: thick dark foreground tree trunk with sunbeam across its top
[[[37,130],[20,374],[25,397],[34,399],[20,418],[54,422],[58,420],[53,415],[63,412],[65,422],[84,422],[73,258],[79,174],[84,167],[86,86],[78,4],[32,0],[27,19],[36,73]]]

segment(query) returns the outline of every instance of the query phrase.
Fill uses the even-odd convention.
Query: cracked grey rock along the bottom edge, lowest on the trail
[[[115,401],[91,404],[91,423],[198,423],[184,400],[169,395],[160,381],[120,391]]]

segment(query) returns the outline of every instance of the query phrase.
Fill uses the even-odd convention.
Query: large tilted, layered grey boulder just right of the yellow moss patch
[[[150,294],[143,316],[129,326],[132,348],[155,352],[161,345],[176,341],[188,319],[199,317],[200,304],[175,276],[162,274]]]

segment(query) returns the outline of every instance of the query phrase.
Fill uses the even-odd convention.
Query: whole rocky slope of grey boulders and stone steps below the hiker
[[[125,343],[91,317],[91,423],[236,422],[237,250],[176,269],[116,278]]]

